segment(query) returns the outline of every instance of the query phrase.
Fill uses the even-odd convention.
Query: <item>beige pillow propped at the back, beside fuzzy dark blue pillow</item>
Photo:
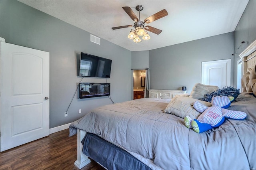
[[[202,99],[205,97],[206,94],[210,94],[218,89],[219,87],[215,85],[204,85],[201,83],[196,83],[192,88],[189,97],[193,99]]]

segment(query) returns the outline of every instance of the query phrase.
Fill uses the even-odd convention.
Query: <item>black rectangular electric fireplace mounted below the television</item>
[[[110,83],[80,83],[79,98],[110,96]]]

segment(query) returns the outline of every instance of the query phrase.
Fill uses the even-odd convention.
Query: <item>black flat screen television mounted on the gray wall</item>
[[[79,76],[110,78],[111,59],[81,53],[79,64]]]

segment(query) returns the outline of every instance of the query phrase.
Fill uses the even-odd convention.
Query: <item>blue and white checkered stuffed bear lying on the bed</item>
[[[184,123],[187,128],[193,128],[197,133],[205,132],[212,128],[219,127],[224,123],[225,118],[242,120],[246,118],[246,113],[240,111],[228,110],[231,101],[234,97],[215,96],[212,97],[212,106],[206,107],[199,101],[196,101],[193,107],[202,113],[198,119],[192,120],[189,116],[184,118]]]

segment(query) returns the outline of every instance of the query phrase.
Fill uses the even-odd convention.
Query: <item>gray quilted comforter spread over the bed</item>
[[[240,95],[230,108],[247,113],[220,127],[196,133],[184,120],[164,113],[168,101],[137,99],[92,110],[70,125],[127,150],[152,169],[256,169],[256,98]]]

